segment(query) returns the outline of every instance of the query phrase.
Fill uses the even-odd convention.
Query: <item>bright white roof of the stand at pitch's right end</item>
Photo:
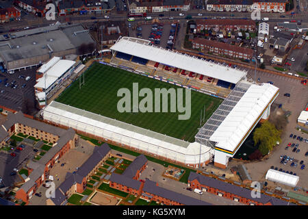
[[[279,88],[270,83],[249,86],[209,140],[218,142],[216,147],[233,152],[242,144],[246,133],[251,131],[255,122],[264,113],[268,104],[274,101],[278,92]]]

